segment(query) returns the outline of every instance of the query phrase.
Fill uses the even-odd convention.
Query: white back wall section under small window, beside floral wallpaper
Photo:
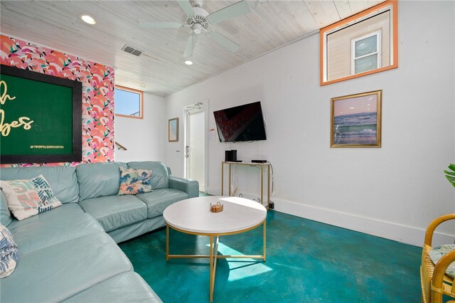
[[[144,119],[115,116],[115,161],[164,161],[164,98],[144,92]],[[166,120],[167,121],[167,120]]]

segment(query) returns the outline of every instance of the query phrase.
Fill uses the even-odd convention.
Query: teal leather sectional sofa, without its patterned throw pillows
[[[151,169],[153,191],[117,196],[120,167]],[[0,191],[0,222],[18,245],[0,302],[161,302],[116,243],[164,226],[164,208],[198,196],[198,182],[154,161],[0,169],[1,180],[40,174],[62,206],[18,221]]]

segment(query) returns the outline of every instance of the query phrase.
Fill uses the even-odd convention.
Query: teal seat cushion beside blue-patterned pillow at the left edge
[[[60,302],[131,270],[109,235],[92,233],[20,255],[13,274],[0,280],[0,301]]]

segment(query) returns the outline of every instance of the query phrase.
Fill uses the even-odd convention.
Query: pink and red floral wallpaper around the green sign
[[[1,64],[82,83],[82,163],[114,161],[114,68],[0,36]],[[0,164],[7,166],[76,166],[73,163]]]

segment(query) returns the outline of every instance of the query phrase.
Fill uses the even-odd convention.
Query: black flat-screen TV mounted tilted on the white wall
[[[213,112],[220,142],[267,139],[261,102],[253,102]]]

